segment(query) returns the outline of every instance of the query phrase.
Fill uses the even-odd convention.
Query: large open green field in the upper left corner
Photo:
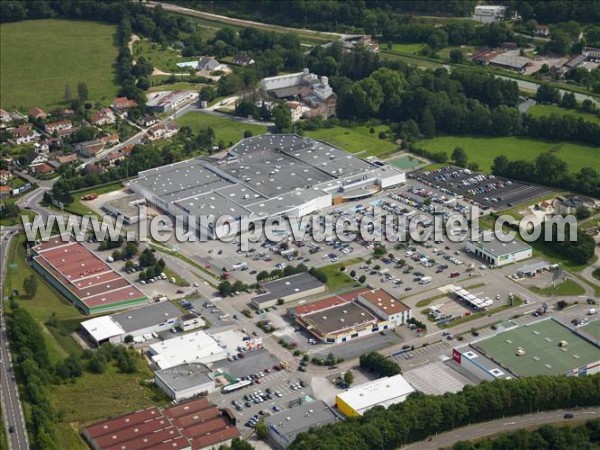
[[[0,26],[0,104],[4,109],[51,108],[64,103],[65,86],[77,96],[85,82],[90,100],[108,104],[118,91],[113,64],[115,27],[72,20],[29,20]]]

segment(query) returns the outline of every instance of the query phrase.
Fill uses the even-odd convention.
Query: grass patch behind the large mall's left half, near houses
[[[189,112],[178,118],[177,123],[182,127],[190,127],[194,132],[211,127],[215,131],[215,142],[222,140],[227,146],[242,139],[246,130],[251,131],[254,136],[267,131],[267,127],[263,125],[250,125],[201,112]]]

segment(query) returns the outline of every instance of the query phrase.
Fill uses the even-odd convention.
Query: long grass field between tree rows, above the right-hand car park
[[[509,160],[534,160],[540,153],[555,151],[556,156],[569,165],[569,171],[579,172],[583,167],[594,167],[597,164],[598,149],[592,145],[571,142],[544,141],[522,137],[474,137],[474,136],[441,136],[418,142],[425,150],[445,151],[448,157],[455,147],[462,147],[469,162],[479,164],[479,170],[488,172],[494,158],[505,155]]]

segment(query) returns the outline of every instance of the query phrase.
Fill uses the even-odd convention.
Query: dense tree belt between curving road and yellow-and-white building
[[[599,402],[600,374],[483,382],[456,394],[412,394],[388,409],[375,407],[362,417],[302,433],[289,448],[393,449],[470,423]]]

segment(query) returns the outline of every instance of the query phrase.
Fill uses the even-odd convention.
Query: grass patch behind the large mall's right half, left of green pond
[[[374,133],[370,132],[370,128],[366,125],[354,128],[320,128],[314,131],[306,131],[304,134],[307,137],[320,139],[362,157],[389,154],[398,149],[398,145],[392,141],[391,137],[388,139],[379,139],[378,137],[381,131],[386,132],[388,136],[391,135],[388,126],[375,126],[373,127],[375,129]]]

